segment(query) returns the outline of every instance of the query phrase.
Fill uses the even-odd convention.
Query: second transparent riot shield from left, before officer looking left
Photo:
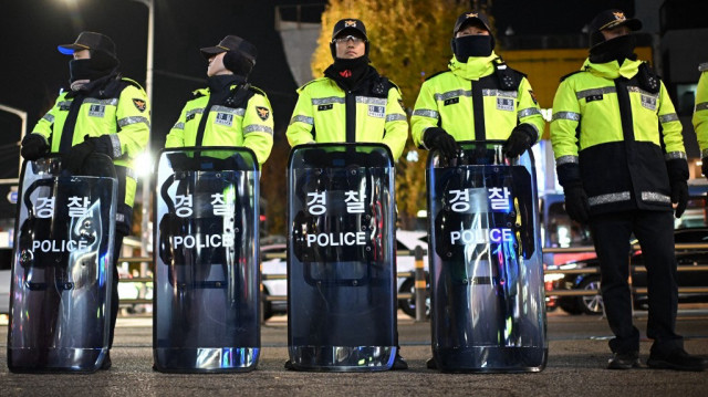
[[[155,368],[252,370],[260,354],[256,155],[164,149],[156,175]]]

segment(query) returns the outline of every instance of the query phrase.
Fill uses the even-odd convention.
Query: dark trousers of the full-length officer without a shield
[[[649,317],[647,336],[652,351],[683,346],[676,334],[678,286],[674,254],[674,216],[671,211],[624,211],[594,216],[590,228],[602,273],[602,299],[607,322],[615,337],[614,353],[639,351],[639,331],[632,324],[632,299],[628,284],[629,238],[642,247],[647,270]]]

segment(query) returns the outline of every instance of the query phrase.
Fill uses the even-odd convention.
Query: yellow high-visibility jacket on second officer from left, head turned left
[[[243,96],[238,90],[238,85],[231,85],[236,102],[210,104],[208,109],[209,88],[195,91],[195,98],[181,109],[165,146],[244,146],[253,150],[259,165],[266,163],[273,147],[272,107],[261,90],[243,86]],[[208,112],[207,119],[199,133],[205,112]]]

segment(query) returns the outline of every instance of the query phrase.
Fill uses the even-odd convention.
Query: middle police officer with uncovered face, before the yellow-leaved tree
[[[398,87],[369,64],[364,22],[336,22],[330,49],[334,62],[324,76],[298,90],[300,96],[285,133],[290,146],[383,143],[398,159],[408,137],[408,119]],[[290,361],[285,367],[290,368]],[[393,369],[407,368],[396,354]]]

